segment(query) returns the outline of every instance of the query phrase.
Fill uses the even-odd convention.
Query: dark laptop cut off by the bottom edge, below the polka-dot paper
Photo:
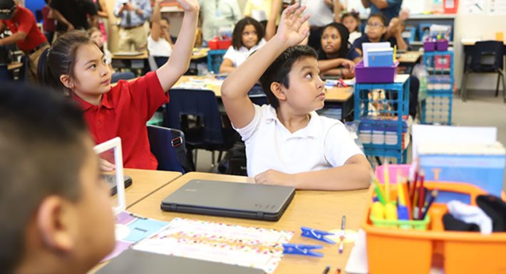
[[[264,270],[128,249],[96,274],[265,274]]]

